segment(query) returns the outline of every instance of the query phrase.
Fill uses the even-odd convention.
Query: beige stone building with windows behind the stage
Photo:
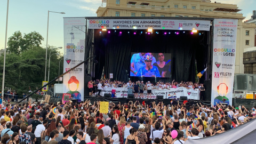
[[[244,23],[234,4],[210,0],[107,0],[96,11],[98,17],[194,17],[238,19],[235,73],[244,73],[244,49],[254,46],[254,23]]]

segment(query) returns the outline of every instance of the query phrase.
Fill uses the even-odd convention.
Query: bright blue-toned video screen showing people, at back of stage
[[[167,55],[166,58],[165,55]],[[130,76],[170,77],[170,59],[170,53],[132,53]]]

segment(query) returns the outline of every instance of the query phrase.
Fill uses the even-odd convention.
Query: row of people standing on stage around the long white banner
[[[199,89],[201,91],[200,100],[204,100],[205,95],[205,87],[204,84],[193,83],[193,82],[163,82],[159,81],[155,84],[150,83],[149,81],[144,83],[143,81],[131,82],[128,83],[120,82],[120,81],[113,81],[111,82],[110,79],[97,79],[96,81],[88,82],[89,87],[89,95],[92,96],[93,91],[98,93],[100,97],[100,92],[103,90],[103,87],[107,88],[117,88],[117,87],[127,87],[128,94],[134,94],[135,98],[143,99],[143,92],[147,91],[148,98],[151,98],[151,90],[170,90],[171,88],[178,88],[178,87],[185,87],[187,89]],[[93,89],[94,88],[94,89]]]

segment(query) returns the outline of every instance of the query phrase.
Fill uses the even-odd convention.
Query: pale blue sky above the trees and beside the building
[[[251,18],[256,10],[255,0],[214,0],[220,3],[237,4],[245,20]],[[46,46],[47,11],[49,17],[48,45],[63,47],[63,17],[97,17],[95,13],[101,0],[10,0],[7,38],[15,31],[22,34],[37,31],[44,37],[42,47]],[[7,0],[0,0],[0,49],[4,49]],[[63,49],[60,50],[63,53]]]

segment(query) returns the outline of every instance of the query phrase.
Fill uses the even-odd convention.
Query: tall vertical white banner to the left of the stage
[[[64,62],[63,72],[84,61],[85,52],[85,18],[64,18]],[[84,100],[84,65],[63,76],[63,93]]]

